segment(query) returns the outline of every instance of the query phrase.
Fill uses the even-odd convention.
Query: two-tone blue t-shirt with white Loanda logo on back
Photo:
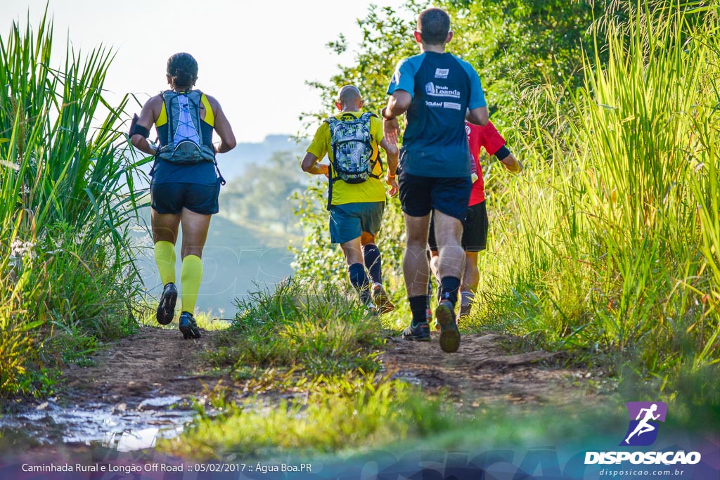
[[[396,90],[413,96],[402,137],[402,171],[431,177],[469,176],[465,112],[487,106],[472,65],[451,53],[420,53],[397,64],[387,94]]]

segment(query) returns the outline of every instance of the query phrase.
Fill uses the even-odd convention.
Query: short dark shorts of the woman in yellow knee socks
[[[215,185],[171,183],[150,184],[150,200],[159,214],[180,214],[183,207],[201,215],[219,210],[220,180]]]

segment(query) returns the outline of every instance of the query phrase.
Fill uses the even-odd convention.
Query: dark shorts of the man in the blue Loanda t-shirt
[[[410,217],[425,217],[438,210],[461,222],[467,215],[472,180],[467,177],[426,177],[401,171],[397,175],[400,186],[400,205]]]

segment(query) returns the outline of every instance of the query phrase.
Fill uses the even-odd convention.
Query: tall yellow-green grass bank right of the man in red
[[[490,198],[480,325],[618,355],[661,389],[684,366],[716,368],[719,14],[656,2],[606,19],[607,61],[585,58],[577,113],[518,135],[526,173]]]

